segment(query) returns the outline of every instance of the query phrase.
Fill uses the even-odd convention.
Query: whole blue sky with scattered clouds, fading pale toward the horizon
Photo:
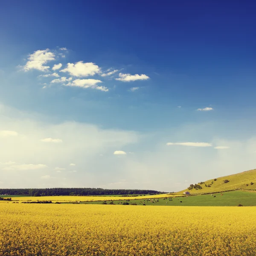
[[[255,168],[255,7],[0,3],[0,186],[177,191]]]

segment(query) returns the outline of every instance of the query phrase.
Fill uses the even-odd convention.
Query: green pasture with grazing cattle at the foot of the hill
[[[216,197],[214,197],[216,196]],[[158,202],[157,202],[158,200]],[[256,206],[256,193],[254,192],[244,192],[244,191],[231,191],[221,193],[216,193],[213,195],[193,195],[186,197],[175,197],[163,199],[159,198],[157,200],[147,201],[147,200],[119,200],[113,201],[114,204],[123,204],[128,202],[129,204],[136,203],[137,205],[165,205],[165,206],[238,206],[242,204],[243,206]],[[182,203],[180,202],[182,201]],[[111,201],[106,201],[109,204]],[[94,202],[80,202],[80,204],[102,204],[102,201]],[[72,204],[72,203],[70,203]]]

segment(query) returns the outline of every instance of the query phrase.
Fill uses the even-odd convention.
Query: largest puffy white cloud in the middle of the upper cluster
[[[100,72],[99,66],[92,62],[83,63],[83,61],[76,62],[76,64],[68,63],[67,67],[60,72],[67,72],[71,76],[83,77],[93,76]]]

